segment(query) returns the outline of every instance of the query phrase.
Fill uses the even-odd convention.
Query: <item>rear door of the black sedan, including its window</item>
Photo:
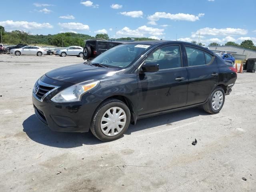
[[[187,105],[205,102],[218,83],[218,64],[215,56],[205,50],[185,45],[188,70]]]

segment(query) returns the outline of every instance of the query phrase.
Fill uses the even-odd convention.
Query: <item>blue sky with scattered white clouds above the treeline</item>
[[[31,34],[75,32],[111,38],[150,37],[256,44],[256,0],[12,0],[0,26]]]

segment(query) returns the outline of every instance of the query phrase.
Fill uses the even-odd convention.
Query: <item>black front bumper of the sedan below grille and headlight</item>
[[[50,98],[57,92],[58,89],[46,96],[42,102],[33,94],[32,102],[38,119],[53,131],[88,132],[94,111],[101,100],[86,93],[79,102],[54,103]]]

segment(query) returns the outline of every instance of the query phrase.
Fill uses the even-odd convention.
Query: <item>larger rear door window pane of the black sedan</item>
[[[193,47],[185,47],[188,57],[188,66],[205,65],[204,52]]]

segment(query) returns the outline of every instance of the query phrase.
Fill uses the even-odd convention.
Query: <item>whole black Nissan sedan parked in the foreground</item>
[[[50,129],[91,130],[112,141],[140,118],[195,106],[218,113],[236,78],[232,64],[202,46],[128,42],[46,73],[32,98],[36,116]]]

